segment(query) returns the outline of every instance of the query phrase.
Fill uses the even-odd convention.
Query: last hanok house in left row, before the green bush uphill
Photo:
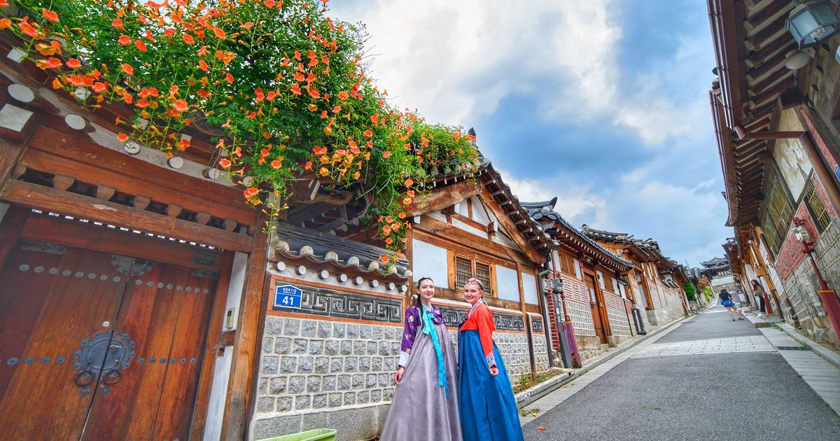
[[[627,275],[629,297],[639,302],[644,310],[643,320],[658,327],[688,313],[679,265],[662,255],[659,244],[653,239],[635,239],[626,233],[612,233],[584,225],[583,234],[604,248],[621,255],[633,263]],[[680,273],[681,274],[681,273]]]

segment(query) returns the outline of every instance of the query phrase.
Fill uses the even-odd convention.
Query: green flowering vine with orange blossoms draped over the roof
[[[474,170],[475,139],[393,108],[365,71],[362,29],[328,17],[327,2],[0,0],[0,29],[55,89],[129,106],[123,142],[175,155],[191,148],[187,127],[213,134],[210,165],[272,215],[293,180],[364,183],[380,239],[402,256],[417,186]]]

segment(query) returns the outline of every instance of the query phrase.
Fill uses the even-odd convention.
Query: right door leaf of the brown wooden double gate
[[[189,438],[214,276],[135,260],[116,327],[130,336],[136,356],[121,378],[100,381],[100,392],[110,391],[97,394],[82,439]]]

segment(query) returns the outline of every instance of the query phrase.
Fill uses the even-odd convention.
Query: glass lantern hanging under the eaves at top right
[[[830,0],[803,3],[785,20],[785,29],[796,39],[799,49],[818,45],[840,31],[840,18]]]

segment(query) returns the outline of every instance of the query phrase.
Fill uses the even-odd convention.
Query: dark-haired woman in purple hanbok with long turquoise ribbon
[[[406,309],[396,390],[382,441],[461,441],[458,360],[432,297],[434,282],[423,277],[414,304]]]

